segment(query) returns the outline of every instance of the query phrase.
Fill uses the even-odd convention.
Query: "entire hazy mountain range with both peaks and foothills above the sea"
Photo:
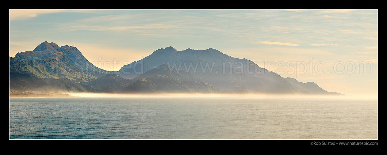
[[[161,48],[145,58],[108,72],[90,63],[73,46],[47,41],[33,51],[10,57],[10,89],[108,93],[275,93],[339,94],[314,82],[260,68],[216,49],[176,51]]]

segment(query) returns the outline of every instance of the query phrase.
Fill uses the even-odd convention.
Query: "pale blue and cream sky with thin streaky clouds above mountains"
[[[9,56],[44,41],[109,71],[168,46],[214,48],[330,92],[378,94],[378,10],[9,10]]]

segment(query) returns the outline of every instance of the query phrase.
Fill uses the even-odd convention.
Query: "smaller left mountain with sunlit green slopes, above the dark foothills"
[[[68,78],[91,82],[108,71],[94,66],[73,46],[58,46],[47,41],[33,51],[10,57],[10,73],[29,73],[40,78]]]

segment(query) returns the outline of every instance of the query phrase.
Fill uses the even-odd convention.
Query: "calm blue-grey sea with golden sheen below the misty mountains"
[[[377,139],[364,99],[10,98],[10,139]]]

